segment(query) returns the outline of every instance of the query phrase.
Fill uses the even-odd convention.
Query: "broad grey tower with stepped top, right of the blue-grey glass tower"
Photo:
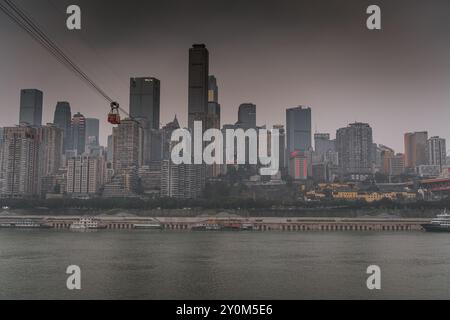
[[[336,150],[341,174],[372,172],[372,128],[367,123],[352,123],[336,132]]]

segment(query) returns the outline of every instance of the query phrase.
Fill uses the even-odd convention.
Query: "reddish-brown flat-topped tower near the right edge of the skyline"
[[[405,133],[405,166],[415,169],[419,165],[427,164],[428,132]]]

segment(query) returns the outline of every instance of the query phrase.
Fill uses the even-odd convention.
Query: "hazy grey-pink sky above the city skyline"
[[[218,79],[222,124],[243,102],[259,125],[284,124],[308,105],[313,128],[335,135],[369,122],[377,143],[403,152],[403,133],[450,139],[450,1],[431,0],[16,0],[110,96],[128,109],[131,76],[161,80],[161,121],[187,119],[188,49],[205,43]],[[65,10],[82,9],[82,31]],[[366,8],[382,9],[381,31]],[[105,120],[108,104],[0,12],[0,126],[16,124],[19,90]],[[111,127],[101,125],[102,142]],[[450,148],[450,146],[449,146]]]

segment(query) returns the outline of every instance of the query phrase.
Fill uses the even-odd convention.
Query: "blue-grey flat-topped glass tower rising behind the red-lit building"
[[[296,107],[286,110],[287,152],[311,149],[311,108]]]

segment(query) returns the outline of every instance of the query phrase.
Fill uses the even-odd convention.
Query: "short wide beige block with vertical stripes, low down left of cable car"
[[[105,177],[103,156],[77,156],[67,162],[66,192],[72,197],[92,196],[99,193]]]

